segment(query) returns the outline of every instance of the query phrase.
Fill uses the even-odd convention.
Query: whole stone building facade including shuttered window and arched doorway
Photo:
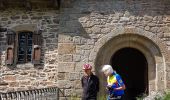
[[[169,0],[1,0],[0,90],[60,87],[80,97],[90,63],[111,64],[127,98],[170,89]]]

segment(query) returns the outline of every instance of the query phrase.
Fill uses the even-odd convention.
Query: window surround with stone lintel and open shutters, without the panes
[[[18,35],[20,32],[32,32],[33,41],[32,41],[32,58],[31,62],[18,64]],[[8,44],[9,34],[14,37],[11,44]],[[17,25],[7,30],[7,49],[6,49],[6,65],[11,68],[20,68],[20,65],[28,64],[30,67],[41,64],[41,45],[42,45],[42,31],[37,28],[35,24],[24,24]],[[11,56],[11,55],[12,56]],[[15,66],[15,67],[14,67]],[[23,66],[22,66],[23,67]]]

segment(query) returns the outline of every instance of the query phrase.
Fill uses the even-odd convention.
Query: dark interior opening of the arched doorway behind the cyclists
[[[148,67],[145,56],[137,49],[123,48],[111,59],[113,69],[121,75],[125,85],[125,100],[148,94]]]

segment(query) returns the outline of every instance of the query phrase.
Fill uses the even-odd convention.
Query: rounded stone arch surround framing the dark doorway
[[[91,51],[90,62],[96,66],[95,72],[100,78],[100,95],[105,92],[105,77],[101,66],[111,64],[112,55],[122,48],[139,50],[148,64],[148,94],[166,89],[165,63],[168,62],[168,50],[165,43],[150,32],[138,28],[118,28],[103,36]]]

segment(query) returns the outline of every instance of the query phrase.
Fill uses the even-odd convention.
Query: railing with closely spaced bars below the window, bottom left
[[[0,92],[0,100],[59,100],[59,88],[43,88],[35,90]]]

